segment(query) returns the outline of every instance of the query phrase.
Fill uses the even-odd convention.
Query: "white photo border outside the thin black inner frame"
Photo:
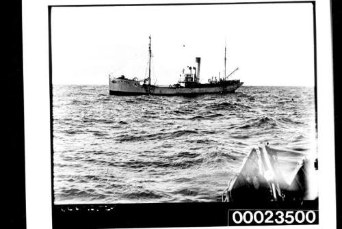
[[[52,227],[49,5],[208,3],[211,1],[23,1],[23,78],[27,228]],[[212,1],[241,3],[242,1]],[[248,3],[268,1],[244,1]],[[285,1],[272,1],[272,3]],[[293,2],[293,1],[286,1]],[[308,1],[300,1],[308,2]],[[319,157],[319,225],[336,227],[334,104],[330,1],[315,3],[316,87]],[[277,226],[283,228],[285,226]],[[306,226],[307,227],[307,226]],[[259,228],[259,226],[257,226]],[[304,226],[295,226],[304,228]]]

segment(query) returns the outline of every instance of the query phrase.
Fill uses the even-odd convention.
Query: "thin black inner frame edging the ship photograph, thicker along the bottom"
[[[318,210],[318,200],[291,203],[191,202],[153,204],[54,204],[53,189],[53,95],[52,95],[52,49],[51,10],[57,7],[107,7],[149,5],[242,5],[274,3],[313,4],[313,44],[315,77],[315,120],[317,131],[317,40],[315,1],[267,1],[239,3],[153,3],[153,4],[109,4],[109,5],[49,5],[49,92],[51,129],[51,200],[53,228],[163,228],[228,226],[228,210],[231,209],[296,209]]]

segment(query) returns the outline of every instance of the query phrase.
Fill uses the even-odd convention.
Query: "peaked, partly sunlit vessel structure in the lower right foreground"
[[[279,154],[297,156],[298,164],[285,176],[278,161]],[[282,165],[283,167],[291,167]],[[315,200],[317,190],[310,183],[317,180],[318,161],[307,154],[293,150],[280,150],[268,145],[252,148],[222,193],[223,202],[274,202]]]

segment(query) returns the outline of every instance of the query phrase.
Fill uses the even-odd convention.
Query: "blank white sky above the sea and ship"
[[[200,82],[227,75],[245,85],[314,85],[313,5],[63,7],[51,12],[53,84],[144,79],[152,36],[152,83],[178,81],[201,57]]]

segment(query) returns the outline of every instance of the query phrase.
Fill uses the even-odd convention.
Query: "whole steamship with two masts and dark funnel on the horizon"
[[[159,86],[151,84],[151,36],[149,36],[148,44],[148,75],[139,80],[137,77],[128,79],[124,75],[114,77],[109,74],[109,94],[117,96],[135,96],[135,95],[159,95],[159,96],[192,96],[199,94],[226,94],[234,93],[243,82],[237,80],[228,80],[239,68],[235,68],[233,72],[226,75],[226,46],[224,47],[224,75],[219,79],[212,77],[208,83],[200,83],[200,57],[196,57],[197,67],[187,66],[187,70],[183,68],[180,80],[174,85]]]

